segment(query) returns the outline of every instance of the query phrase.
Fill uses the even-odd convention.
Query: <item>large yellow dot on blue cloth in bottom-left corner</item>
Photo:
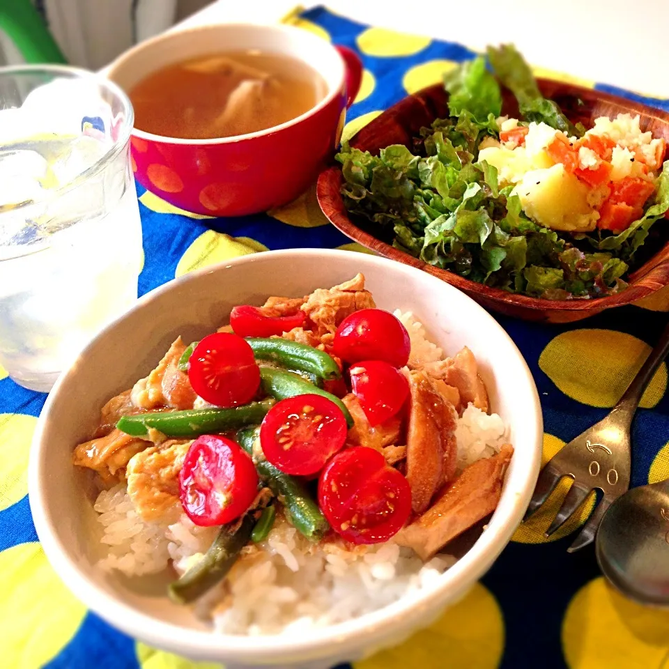
[[[37,541],[0,553],[0,592],[3,667],[44,666],[70,642],[86,615]]]

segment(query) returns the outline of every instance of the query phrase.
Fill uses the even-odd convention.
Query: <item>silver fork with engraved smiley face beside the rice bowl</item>
[[[599,489],[603,493],[583,530],[567,548],[569,553],[574,553],[592,543],[606,509],[615,498],[629,489],[632,418],[646,386],[667,353],[669,353],[669,325],[611,412],[599,423],[562,447],[539,474],[525,520],[548,499],[548,495],[555,490],[562,477],[568,476],[574,479],[560,511],[546,530],[546,537],[559,530],[594,489]]]

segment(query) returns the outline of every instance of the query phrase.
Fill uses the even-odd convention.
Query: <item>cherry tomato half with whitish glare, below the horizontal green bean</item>
[[[225,437],[205,434],[190,445],[179,473],[181,505],[196,525],[239,518],[258,492],[252,459]]]

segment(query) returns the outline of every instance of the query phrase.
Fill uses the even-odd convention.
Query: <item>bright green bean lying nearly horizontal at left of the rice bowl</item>
[[[268,397],[261,402],[227,409],[213,407],[139,413],[121,417],[116,427],[131,437],[146,438],[149,429],[154,429],[166,437],[194,438],[201,434],[217,434],[258,424],[274,403],[275,400]]]

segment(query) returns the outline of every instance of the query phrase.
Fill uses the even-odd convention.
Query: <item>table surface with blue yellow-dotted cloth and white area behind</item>
[[[499,15],[498,5],[477,3],[477,13],[485,14],[481,8],[490,7],[488,23],[473,22],[467,8],[471,3],[461,4],[447,10],[445,3],[434,10],[422,4],[420,16],[410,17],[391,3],[334,1],[332,7],[339,14],[312,8],[299,17],[292,15],[302,28],[357,49],[367,68],[364,93],[351,107],[345,134],[397,102],[408,88],[437,81],[444,59],[470,56],[462,44],[480,49],[489,41],[502,40],[513,40],[535,66],[577,74],[604,90],[622,86],[653,95],[650,102],[669,111],[669,78],[655,82],[652,71],[659,72],[660,67],[643,67],[646,62],[664,63],[669,55],[660,35],[667,24],[664,3],[652,21],[647,15],[660,3],[649,0],[638,1],[634,10],[622,3],[618,8],[617,2],[597,0],[580,7],[567,0],[557,13],[544,8],[544,3],[530,8],[530,3],[511,0],[503,10],[513,20]],[[273,22],[292,8],[286,0],[222,0],[175,29],[259,17]],[[369,29],[369,24],[390,31]],[[544,26],[551,27],[550,34]],[[410,38],[392,29],[429,31],[439,39]],[[575,56],[575,44],[582,45],[582,58]],[[146,256],[140,293],[193,268],[263,249],[360,250],[324,220],[313,188],[267,215],[233,219],[199,217],[141,188],[138,194]],[[659,336],[667,312],[669,289],[643,304],[570,326],[497,317],[521,349],[537,383],[544,413],[544,459],[615,403]],[[33,528],[25,477],[31,433],[45,395],[26,391],[3,376],[0,368],[0,666],[217,666],[191,663],[114,631],[87,612],[54,574]],[[666,391],[663,366],[633,425],[634,486],[669,477]],[[566,489],[567,484],[561,484],[548,509],[518,528],[466,599],[407,643],[357,662],[354,669],[403,669],[416,661],[422,669],[669,669],[669,612],[642,608],[610,590],[599,574],[592,547],[575,555],[566,553],[573,539],[569,534],[583,525],[592,505],[586,503],[551,540],[544,537]]]

